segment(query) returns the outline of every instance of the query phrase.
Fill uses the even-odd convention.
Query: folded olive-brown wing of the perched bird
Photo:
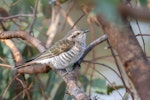
[[[52,47],[47,49],[45,52],[41,53],[37,56],[35,60],[43,60],[46,58],[51,58],[54,56],[58,56],[59,54],[70,50],[74,46],[75,42],[69,40],[60,40],[56,42]]]

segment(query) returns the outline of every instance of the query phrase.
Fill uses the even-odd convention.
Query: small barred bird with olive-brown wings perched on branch
[[[31,64],[47,64],[52,69],[66,69],[77,62],[86,49],[86,33],[88,30],[71,29],[68,34],[37,57],[26,61],[16,69]]]

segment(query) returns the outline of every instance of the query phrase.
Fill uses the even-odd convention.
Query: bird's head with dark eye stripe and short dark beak
[[[70,41],[85,41],[88,30],[72,29],[66,35],[66,39]]]

